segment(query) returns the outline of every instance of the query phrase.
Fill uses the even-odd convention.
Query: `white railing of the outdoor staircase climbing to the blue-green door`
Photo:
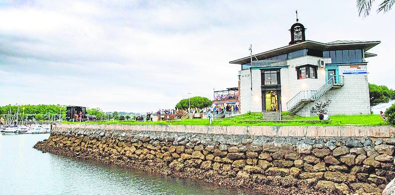
[[[328,79],[320,88],[317,90],[303,90],[296,94],[287,102],[288,110],[292,110],[296,105],[301,103],[302,101],[316,101],[322,97],[328,90],[330,90],[334,85],[343,85],[344,84],[344,76],[343,75],[334,75]]]

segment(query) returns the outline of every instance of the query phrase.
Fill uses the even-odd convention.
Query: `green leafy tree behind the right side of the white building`
[[[380,103],[387,103],[391,99],[395,99],[395,90],[389,89],[385,85],[377,85],[369,83],[370,106]]]

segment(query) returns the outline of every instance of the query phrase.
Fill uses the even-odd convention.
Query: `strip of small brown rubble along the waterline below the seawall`
[[[51,135],[52,136],[52,135]],[[53,137],[52,137],[53,138]],[[56,155],[63,155],[84,160],[95,160],[104,164],[116,164],[125,168],[137,169],[140,171],[173,176],[192,181],[199,180],[225,186],[230,188],[253,189],[255,193],[262,194],[342,194],[337,189],[317,190],[314,188],[317,180],[303,181],[288,176],[265,176],[265,178],[244,178],[237,175],[221,175],[216,171],[204,171],[199,168],[185,167],[177,170],[177,166],[169,167],[169,163],[158,159],[126,158],[121,155],[106,156],[104,153],[93,152],[89,148],[73,149],[72,147],[58,144],[51,144],[51,137],[37,142],[33,147],[42,152],[49,152]],[[104,155],[103,155],[104,154]],[[286,187],[284,187],[286,186]]]

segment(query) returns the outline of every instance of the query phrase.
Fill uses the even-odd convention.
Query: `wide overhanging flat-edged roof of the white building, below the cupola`
[[[365,57],[376,56],[376,54],[366,52],[373,46],[376,46],[381,41],[361,41],[361,40],[336,40],[328,43],[317,42],[313,40],[305,40],[303,42],[283,46],[280,48],[276,48],[273,50],[265,51],[262,53],[258,53],[256,57],[258,60],[266,59],[269,57],[274,57],[277,55],[297,51],[304,48],[313,48],[318,50],[343,50],[343,49],[364,49]],[[250,56],[246,56],[240,59],[236,59],[233,61],[229,61],[229,63],[235,64],[245,64],[250,62]]]

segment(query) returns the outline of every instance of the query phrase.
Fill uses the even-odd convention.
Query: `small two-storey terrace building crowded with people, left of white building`
[[[234,111],[235,106],[239,110],[240,101],[239,101],[239,88],[231,87],[226,88],[226,90],[216,90],[214,91],[213,97],[213,107],[230,105],[230,110]]]

